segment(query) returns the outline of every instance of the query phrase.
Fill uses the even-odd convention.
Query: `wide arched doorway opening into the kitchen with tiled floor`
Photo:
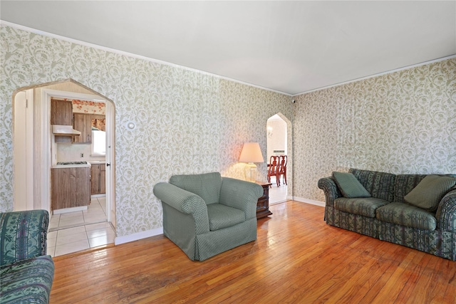
[[[86,135],[90,142],[76,143],[63,137],[59,143],[51,125],[51,99],[72,104],[73,117],[84,117],[105,130],[105,154],[93,150],[93,133]],[[14,96],[14,209],[45,209],[51,223],[48,232],[48,254],[60,256],[84,249],[113,243],[115,239],[115,106],[100,93],[74,80],[33,85],[16,90]],[[95,108],[94,108],[95,107]],[[93,117],[92,117],[93,116]],[[88,118],[93,119],[88,119]],[[76,120],[73,127],[76,126]],[[97,128],[98,127],[98,128]],[[99,135],[98,135],[99,136]],[[69,142],[68,142],[69,139]],[[25,148],[25,149],[24,149]],[[86,162],[88,189],[86,206],[76,209],[53,206],[52,172],[57,162]],[[93,167],[92,167],[93,166]],[[93,190],[93,170],[104,182]],[[60,169],[60,168],[59,168]],[[101,171],[101,173],[100,173]],[[55,173],[56,174],[56,173]],[[56,176],[56,175],[55,175]],[[25,181],[25,183],[24,183]],[[97,179],[100,183],[100,179]],[[76,188],[78,189],[78,188]],[[104,192],[104,193],[102,193]],[[81,194],[76,190],[76,194]],[[86,201],[85,200],[85,201]],[[55,199],[56,201],[56,199]]]

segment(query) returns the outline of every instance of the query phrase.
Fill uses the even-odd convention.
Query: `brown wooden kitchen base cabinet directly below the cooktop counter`
[[[51,169],[51,209],[90,204],[90,167]]]

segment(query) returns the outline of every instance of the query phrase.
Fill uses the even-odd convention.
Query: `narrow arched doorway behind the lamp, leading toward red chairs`
[[[277,113],[268,118],[266,122],[266,161],[269,164],[271,156],[286,155],[287,164],[287,183],[284,179],[277,184],[276,177],[271,177],[271,189],[269,189],[269,204],[278,204],[291,199],[291,179],[292,179],[292,141],[291,141],[291,122],[281,113]]]

